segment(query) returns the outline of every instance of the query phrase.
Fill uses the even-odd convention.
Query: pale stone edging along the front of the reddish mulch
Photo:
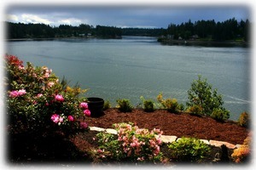
[[[102,128],[102,127],[89,127],[91,131],[97,131],[97,132],[106,132],[106,133],[112,133],[117,134],[117,131],[113,128]],[[177,138],[177,136],[170,136],[170,135],[161,135],[160,139],[163,143],[172,143],[180,138]],[[207,140],[207,139],[200,139],[205,144],[210,144],[216,147],[221,147],[222,144],[226,145],[227,148],[234,150],[236,148],[239,148],[241,144],[230,144],[228,142],[224,141],[218,141],[218,140]]]

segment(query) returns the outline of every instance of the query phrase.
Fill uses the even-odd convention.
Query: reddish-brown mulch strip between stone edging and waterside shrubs
[[[211,117],[191,116],[189,114],[173,114],[166,110],[144,112],[141,109],[128,113],[121,113],[117,109],[104,111],[100,117],[87,117],[90,127],[111,128],[113,123],[133,122],[138,127],[160,128],[164,135],[180,137],[195,137],[198,139],[213,139],[229,142],[230,144],[242,144],[247,138],[249,130],[238,126],[236,122],[217,122]]]

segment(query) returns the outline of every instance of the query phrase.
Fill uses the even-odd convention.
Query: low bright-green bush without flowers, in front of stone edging
[[[177,161],[200,161],[211,150],[200,139],[184,137],[169,144],[168,148]]]

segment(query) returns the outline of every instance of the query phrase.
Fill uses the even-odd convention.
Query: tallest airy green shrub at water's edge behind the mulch
[[[222,96],[217,94],[217,89],[212,91],[212,85],[207,82],[207,79],[201,80],[201,75],[198,76],[197,81],[191,83],[188,95],[189,102],[187,102],[187,105],[200,106],[202,113],[207,116],[211,116],[214,109],[222,108],[224,104]]]

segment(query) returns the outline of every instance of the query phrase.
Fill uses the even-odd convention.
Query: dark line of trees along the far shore
[[[235,18],[216,22],[215,20],[191,20],[180,25],[170,24],[167,28],[119,28],[116,26],[79,26],[45,24],[23,24],[5,22],[8,31],[7,39],[17,38],[55,38],[55,37],[106,37],[122,36],[162,37],[178,39],[207,39],[212,41],[239,40],[249,41],[250,21]]]

